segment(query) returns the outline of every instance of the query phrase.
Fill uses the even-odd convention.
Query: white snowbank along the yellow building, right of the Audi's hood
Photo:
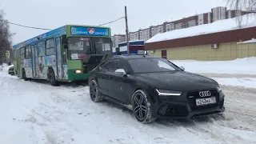
[[[233,61],[170,60],[192,73],[256,74],[256,57],[238,58]]]

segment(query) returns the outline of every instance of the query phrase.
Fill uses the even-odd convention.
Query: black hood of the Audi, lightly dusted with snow
[[[218,83],[213,79],[185,71],[135,75],[137,79],[162,90],[190,91],[216,89],[218,87]]]

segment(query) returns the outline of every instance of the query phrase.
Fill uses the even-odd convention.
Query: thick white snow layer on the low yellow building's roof
[[[241,22],[241,29],[256,26],[255,14],[246,14],[238,18],[224,19],[210,24],[192,26],[186,29],[172,30],[166,33],[157,34],[154,37],[147,40],[146,43],[193,37],[202,34],[213,34],[222,31],[237,30],[238,21]]]

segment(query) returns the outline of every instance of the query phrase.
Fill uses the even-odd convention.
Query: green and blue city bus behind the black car
[[[52,86],[86,81],[90,70],[112,53],[109,27],[66,25],[14,45],[14,72]]]

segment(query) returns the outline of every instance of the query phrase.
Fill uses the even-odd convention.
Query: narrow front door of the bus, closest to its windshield
[[[61,38],[55,38],[56,45],[56,67],[57,67],[57,77],[58,80],[63,79],[63,70],[62,70],[62,46]]]

